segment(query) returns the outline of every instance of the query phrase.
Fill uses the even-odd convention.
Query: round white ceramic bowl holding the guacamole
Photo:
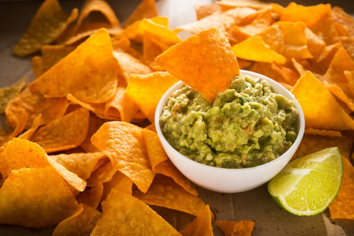
[[[271,78],[258,73],[246,70],[240,70],[240,73],[251,77],[264,78],[273,87],[274,92],[283,94],[286,98],[293,100],[295,102],[295,107],[299,111],[297,138],[295,142],[284,154],[269,163],[244,169],[218,168],[195,162],[182,155],[180,152],[176,151],[164,138],[159,125],[159,117],[171,93],[177,89],[180,89],[183,86],[183,82],[181,81],[174,84],[170,89],[167,90],[167,92],[161,97],[161,100],[159,101],[156,107],[156,131],[169,159],[172,161],[175,167],[178,168],[181,173],[185,175],[188,179],[190,179],[192,182],[203,188],[216,192],[242,192],[256,188],[268,182],[276,174],[278,174],[290,161],[300,144],[305,129],[305,120],[300,104],[284,86],[280,85]]]

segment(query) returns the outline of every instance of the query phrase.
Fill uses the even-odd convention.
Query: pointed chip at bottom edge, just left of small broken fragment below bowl
[[[213,236],[211,225],[211,211],[209,205],[205,205],[204,209],[200,211],[197,217],[186,227],[181,229],[179,232],[183,236],[192,236],[192,235],[209,235]]]

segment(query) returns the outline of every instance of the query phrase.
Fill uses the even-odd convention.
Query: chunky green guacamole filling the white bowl
[[[268,163],[295,141],[298,110],[262,78],[239,75],[210,104],[189,86],[172,93],[159,122],[171,146],[214,167]]]

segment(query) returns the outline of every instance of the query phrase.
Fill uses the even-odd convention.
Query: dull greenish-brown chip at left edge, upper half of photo
[[[5,112],[10,100],[16,97],[26,85],[27,76],[24,76],[15,84],[0,88],[0,114]]]

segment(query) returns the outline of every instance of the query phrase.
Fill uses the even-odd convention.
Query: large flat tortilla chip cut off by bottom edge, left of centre
[[[112,189],[91,235],[181,235],[139,199]],[[141,229],[144,229],[143,231]]]

